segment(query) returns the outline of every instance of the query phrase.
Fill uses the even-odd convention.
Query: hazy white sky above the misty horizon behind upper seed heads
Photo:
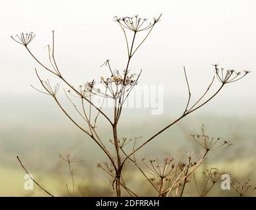
[[[74,85],[106,75],[100,65],[110,59],[115,69],[125,68],[123,33],[114,16],[140,14],[153,18],[162,13],[146,43],[135,54],[131,70],[144,72],[143,84],[163,84],[166,93],[186,91],[182,66],[186,66],[195,93],[211,80],[213,66],[252,70],[232,83],[223,98],[247,98],[255,103],[256,2],[251,1],[0,1],[0,93],[31,94],[38,67],[22,45],[10,35],[34,31],[30,48],[47,58],[45,45],[56,33],[56,58],[62,74]],[[51,78],[51,76],[49,75]],[[244,99],[243,99],[244,100]]]

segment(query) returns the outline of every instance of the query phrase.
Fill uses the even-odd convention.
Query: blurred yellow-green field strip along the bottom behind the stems
[[[256,182],[255,159],[241,159],[226,163],[216,162],[206,165],[207,167],[217,167],[220,171],[228,172],[236,179],[243,180],[251,177],[251,181]],[[202,169],[203,167],[198,170],[196,176],[201,176]],[[77,171],[74,171],[74,173],[77,174]],[[45,192],[35,184],[34,190],[24,190],[25,173],[21,167],[0,167],[0,174],[0,196],[47,196],[47,194],[45,194]],[[95,176],[84,175],[81,177],[79,175],[75,175],[76,196],[114,196],[114,192],[112,190],[112,179],[110,177],[104,178],[104,173],[100,171],[100,169],[98,169],[98,171],[95,170],[95,174]],[[66,190],[66,184],[68,184],[69,187],[72,187],[72,183],[68,175],[60,175],[58,174],[58,171],[48,174],[33,171],[33,177],[36,180],[39,180],[41,186],[49,190],[49,192],[54,194],[54,196],[69,196],[68,191]],[[129,186],[136,189],[136,192],[140,196],[155,195],[152,187],[150,184],[147,184],[139,171],[133,171],[131,174],[127,175],[127,180],[129,180]],[[189,180],[191,183],[189,182],[187,184],[185,196],[197,196],[196,192],[190,190],[194,188],[194,182],[192,179]],[[220,185],[220,183],[217,183],[210,196],[236,196],[232,190],[221,190]]]

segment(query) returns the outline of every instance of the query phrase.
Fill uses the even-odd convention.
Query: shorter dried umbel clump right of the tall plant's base
[[[164,157],[161,161],[158,158],[142,158],[142,166],[144,167],[138,163],[135,153],[133,153],[133,158],[129,158],[129,160],[137,166],[142,175],[144,175],[146,180],[148,180],[158,192],[158,196],[169,196],[170,192],[172,192],[173,196],[182,196],[184,188],[188,183],[188,177],[194,174],[194,171],[202,165],[203,161],[217,150],[224,150],[231,145],[225,140],[221,142],[221,138],[208,137],[205,135],[203,126],[202,135],[192,135],[193,138],[195,138],[195,136],[196,142],[200,142],[199,145],[200,148],[202,148],[202,153],[198,158],[195,158],[193,152],[188,151],[184,152],[184,154],[180,154],[180,157],[177,160],[172,156]],[[201,143],[201,140],[203,144]],[[135,144],[136,140],[134,142],[133,150]],[[125,152],[123,153],[127,156]],[[217,169],[215,171],[212,170],[213,169],[205,171],[205,177],[215,184],[220,178],[219,172]],[[207,182],[201,196],[205,196],[211,188],[213,188],[213,186],[210,186],[207,190]],[[175,190],[175,192],[173,192],[173,190]]]

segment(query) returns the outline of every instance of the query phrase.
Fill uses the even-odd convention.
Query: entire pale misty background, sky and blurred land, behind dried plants
[[[200,133],[203,123],[210,136],[234,143],[232,148],[215,155],[213,165],[221,162],[224,169],[232,165],[238,176],[245,177],[246,171],[250,173],[254,169],[255,1],[1,0],[0,5],[0,196],[28,195],[23,189],[24,172],[16,161],[17,153],[33,173],[42,181],[46,179],[46,185],[51,176],[68,176],[58,153],[75,154],[83,159],[74,167],[85,185],[90,182],[87,177],[102,174],[96,169],[96,162],[105,159],[94,142],[72,125],[51,97],[30,87],[40,89],[33,71],[35,67],[44,79],[54,77],[44,74],[11,35],[35,32],[29,47],[47,62],[45,46],[51,44],[54,30],[58,66],[62,75],[78,87],[86,81],[106,77],[106,68],[100,68],[106,59],[114,69],[125,68],[125,39],[113,21],[114,16],[139,14],[152,20],[162,14],[161,21],[135,54],[130,70],[138,73],[142,69],[141,85],[163,85],[163,114],[152,116],[148,108],[125,109],[119,126],[120,137],[142,136],[145,139],[182,114],[188,98],[183,66],[190,81],[192,101],[209,85],[214,75],[212,64],[220,64],[225,69],[249,70],[251,74],[226,85],[209,104],[165,131],[138,156],[197,150],[190,134]],[[216,80],[212,91],[219,85]],[[64,96],[60,97],[68,106]],[[110,110],[106,112],[111,114]],[[111,136],[108,128],[102,127],[101,133],[108,142]],[[34,193],[44,195],[40,190]]]

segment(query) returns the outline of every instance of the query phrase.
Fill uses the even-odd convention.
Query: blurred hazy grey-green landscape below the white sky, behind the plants
[[[24,190],[25,173],[18,164],[16,154],[20,155],[28,171],[42,186],[56,196],[68,196],[66,184],[71,186],[72,183],[68,165],[58,158],[59,153],[71,154],[82,160],[72,165],[77,196],[114,196],[113,180],[96,167],[98,161],[105,161],[106,158],[95,143],[72,125],[49,100],[26,101],[30,103],[22,100],[19,106],[16,106],[16,102],[10,102],[8,106],[0,104],[0,196],[47,196],[37,186],[32,192]],[[127,110],[120,121],[119,137],[142,137],[144,140],[175,119],[175,110],[163,116],[151,116],[148,113],[148,110]],[[210,113],[202,112],[177,123],[142,148],[137,158],[175,156],[184,150],[198,154],[200,150],[190,135],[200,133],[203,123],[207,135],[221,137],[234,144],[213,154],[205,166],[218,167],[221,171],[231,173],[234,178],[251,178],[256,183],[256,117]],[[136,121],[134,116],[139,116]],[[109,142],[111,131],[102,125],[100,135],[104,137],[106,146],[112,148],[110,151],[114,152]],[[137,170],[131,169],[125,173],[125,177],[129,186],[135,188],[140,196],[154,196],[154,191]],[[185,195],[196,196],[189,189]],[[213,195],[234,194],[217,188]]]

